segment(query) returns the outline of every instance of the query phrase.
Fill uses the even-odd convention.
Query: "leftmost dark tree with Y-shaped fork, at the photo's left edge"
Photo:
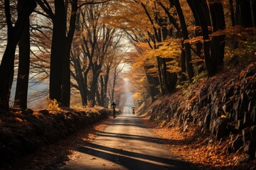
[[[28,22],[29,16],[35,8],[36,2],[34,0],[26,1],[21,6],[20,10],[18,10],[18,18],[13,25],[11,21],[10,1],[4,1],[8,38],[6,50],[0,65],[0,108],[9,109],[11,84],[14,79],[14,59],[16,46],[23,33],[23,28]]]

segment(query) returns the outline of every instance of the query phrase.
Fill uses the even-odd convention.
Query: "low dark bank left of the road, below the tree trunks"
[[[11,111],[0,114],[0,164],[35,152],[87,125],[107,118],[112,111]]]

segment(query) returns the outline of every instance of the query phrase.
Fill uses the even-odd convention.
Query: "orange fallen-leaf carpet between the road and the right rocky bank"
[[[191,125],[188,132],[183,132],[183,126],[174,128],[160,128],[156,123],[148,122],[149,128],[154,128],[154,133],[166,139],[166,147],[174,155],[191,164],[196,164],[196,169],[225,169],[225,170],[255,170],[256,161],[250,161],[248,155],[238,150],[226,154],[225,147],[228,140],[215,140],[213,135],[202,134],[196,126]]]

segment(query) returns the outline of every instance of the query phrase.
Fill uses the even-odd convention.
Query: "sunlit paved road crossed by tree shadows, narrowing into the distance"
[[[78,149],[77,159],[60,169],[191,169],[175,159],[143,121],[132,113],[117,116],[94,142]]]

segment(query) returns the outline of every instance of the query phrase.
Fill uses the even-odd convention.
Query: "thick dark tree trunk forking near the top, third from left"
[[[78,1],[55,0],[53,13],[47,1],[37,0],[43,11],[53,22],[50,55],[50,99],[70,105],[70,49],[75,32]],[[68,24],[68,4],[71,4]],[[68,28],[68,29],[67,29]]]

